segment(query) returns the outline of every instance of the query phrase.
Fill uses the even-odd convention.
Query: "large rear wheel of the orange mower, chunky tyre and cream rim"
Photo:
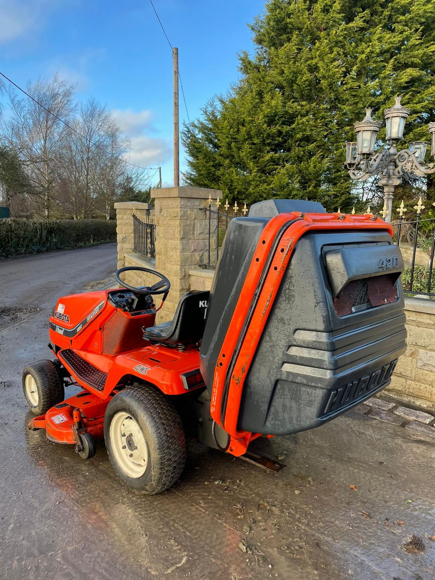
[[[104,440],[115,472],[134,490],[159,494],[183,472],[180,416],[152,386],[128,387],[113,397],[104,415]]]

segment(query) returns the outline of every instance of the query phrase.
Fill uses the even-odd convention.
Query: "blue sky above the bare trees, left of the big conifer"
[[[264,0],[153,2],[179,48],[193,119],[237,81],[237,53],[253,49],[247,23]],[[0,0],[0,71],[23,88],[59,71],[77,84],[79,100],[93,96],[113,111],[131,139],[132,162],[161,165],[164,184],[173,183],[172,53],[149,0]]]

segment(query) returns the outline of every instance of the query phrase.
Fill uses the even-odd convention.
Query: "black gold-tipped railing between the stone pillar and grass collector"
[[[213,206],[216,209],[213,209]],[[222,206],[222,211],[220,206]],[[200,266],[209,268],[215,267],[218,263],[220,248],[230,221],[237,218],[237,216],[247,215],[249,209],[245,203],[240,208],[236,201],[234,206],[231,207],[228,200],[226,200],[225,204],[222,204],[219,197],[217,200],[212,200],[209,197],[208,208],[204,208],[204,210],[208,214],[208,252],[205,263],[201,263]]]

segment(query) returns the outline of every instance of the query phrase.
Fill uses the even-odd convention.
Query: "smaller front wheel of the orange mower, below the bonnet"
[[[32,362],[23,371],[23,392],[35,415],[44,415],[65,397],[63,380],[53,361]]]

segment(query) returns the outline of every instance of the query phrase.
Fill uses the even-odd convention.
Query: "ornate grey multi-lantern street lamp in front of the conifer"
[[[380,121],[372,119],[371,108],[365,109],[365,118],[354,124],[357,134],[356,142],[346,143],[346,169],[351,179],[365,181],[369,177],[379,175],[379,185],[383,186],[384,208],[386,222],[391,221],[394,189],[402,183],[404,173],[414,173],[423,176],[435,173],[435,163],[423,165],[427,142],[415,141],[409,143],[407,149],[397,152],[397,143],[403,139],[405,122],[409,109],[400,104],[400,96],[395,97],[396,104],[384,109],[386,121],[386,140],[388,147],[375,153],[376,136],[380,129]],[[435,123],[429,123],[431,137],[430,154],[435,159]]]

